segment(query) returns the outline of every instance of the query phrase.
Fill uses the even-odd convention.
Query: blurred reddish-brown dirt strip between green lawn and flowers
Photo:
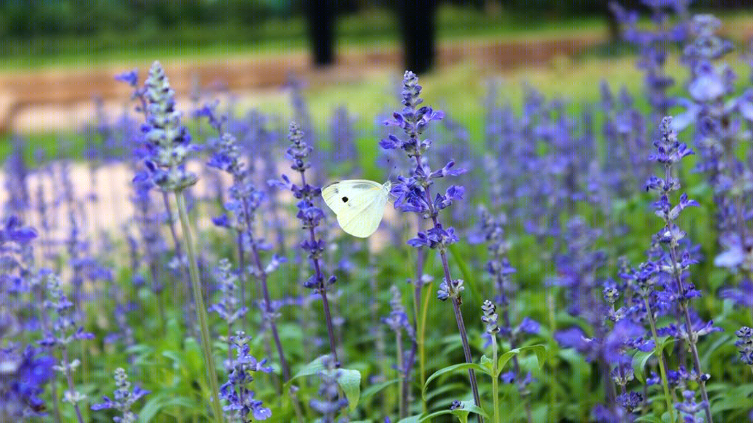
[[[469,41],[443,44],[438,49],[438,66],[470,62],[478,68],[511,69],[548,63],[553,58],[583,53],[603,40],[603,35],[579,35],[570,39],[526,41]],[[170,61],[163,63],[176,92],[187,94],[199,84],[221,83],[244,97],[279,92],[293,72],[310,86],[358,82],[374,73],[386,74],[401,68],[400,51],[372,47],[349,49],[335,65],[314,68],[303,53],[263,58],[234,57],[226,60]],[[80,128],[94,116],[94,98],[103,99],[105,109],[117,112],[129,87],[114,80],[128,66],[89,69],[51,69],[0,74],[0,134],[47,132]]]

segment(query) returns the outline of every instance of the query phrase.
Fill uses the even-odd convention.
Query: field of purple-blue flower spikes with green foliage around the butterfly
[[[154,62],[81,154],[15,139],[0,422],[753,421],[753,46],[646,3],[596,101],[182,107]]]

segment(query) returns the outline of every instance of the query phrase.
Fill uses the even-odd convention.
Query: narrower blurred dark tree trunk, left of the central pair
[[[335,63],[334,0],[306,0],[306,19],[314,66]]]

